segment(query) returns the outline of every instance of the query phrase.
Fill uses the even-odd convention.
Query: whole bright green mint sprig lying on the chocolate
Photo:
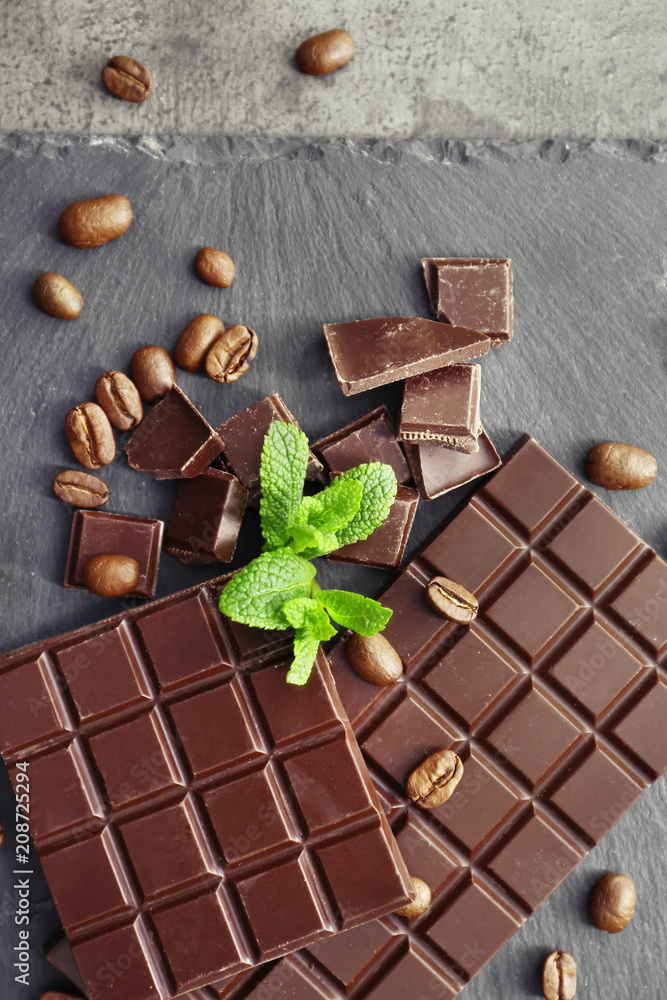
[[[305,684],[320,642],[336,632],[332,620],[360,635],[380,632],[392,612],[346,590],[321,590],[310,562],[368,538],[396,499],[389,465],[370,462],[344,472],[315,496],[304,497],[308,439],[274,420],[260,465],[260,520],[264,551],[236,573],[220,595],[220,611],[265,629],[294,629],[290,684]]]

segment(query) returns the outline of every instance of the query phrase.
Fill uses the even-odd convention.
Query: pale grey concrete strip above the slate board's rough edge
[[[354,59],[303,76],[333,27]],[[0,39],[2,132],[667,137],[664,0],[0,0]],[[144,105],[104,90],[115,54]]]

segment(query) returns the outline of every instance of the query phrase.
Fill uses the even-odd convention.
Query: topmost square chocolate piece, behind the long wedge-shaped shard
[[[512,261],[496,257],[422,260],[431,308],[440,320],[488,334],[493,346],[512,339]]]

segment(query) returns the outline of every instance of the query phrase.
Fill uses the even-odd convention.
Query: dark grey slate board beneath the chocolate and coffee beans
[[[216,424],[279,391],[311,439],[380,402],[397,411],[400,387],[345,398],[323,321],[428,315],[425,255],[508,256],[514,261],[515,340],[483,361],[482,417],[499,449],[529,431],[581,475],[589,446],[631,441],[661,466],[665,442],[667,168],[665,147],[628,144],[136,141],[9,136],[0,140],[2,427],[0,651],[120,610],[65,590],[72,511],[51,493],[75,468],[63,430],[70,406],[92,398],[98,374],[127,370],[145,343],[173,348],[196,313],[243,322],[259,334],[257,361],[219,386],[180,373],[179,383]],[[63,246],[56,223],[70,202],[126,194],[128,233],[105,247]],[[233,287],[195,276],[202,245],[228,251]],[[40,313],[30,287],[40,271],[66,275],[86,305],[73,323]],[[173,483],[157,483],[119,454],[103,477],[108,508],[167,518]],[[662,475],[649,489],[603,499],[667,554]],[[600,492],[600,491],[598,491]],[[411,550],[465,491],[422,504]],[[256,552],[248,529],[236,564]],[[328,585],[373,593],[375,570],[322,567]],[[158,596],[213,575],[163,556]],[[336,581],[334,584],[333,581]],[[32,879],[31,985],[14,982],[13,795],[4,770],[0,818],[0,995],[32,1000],[63,988],[41,957],[58,920],[44,881]],[[467,988],[467,1000],[539,995],[553,948],[571,951],[590,1000],[662,991],[667,933],[667,785],[658,782]],[[607,870],[635,879],[631,926],[607,937],[586,916]]]

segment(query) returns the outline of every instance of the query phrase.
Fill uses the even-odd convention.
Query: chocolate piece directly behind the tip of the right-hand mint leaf
[[[396,428],[386,406],[365,413],[340,430],[312,445],[330,476],[347,472],[365,462],[391,465],[399,485],[412,479],[403,449],[396,440]]]

